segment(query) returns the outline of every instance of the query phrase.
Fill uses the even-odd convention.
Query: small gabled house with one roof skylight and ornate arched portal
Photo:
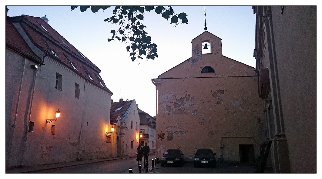
[[[137,155],[139,145],[140,117],[135,99],[111,101],[110,124],[112,132],[113,156]]]

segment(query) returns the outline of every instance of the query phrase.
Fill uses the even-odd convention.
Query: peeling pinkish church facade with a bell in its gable
[[[208,31],[192,40],[192,57],[152,80],[157,90],[157,155],[181,149],[193,160],[211,148],[219,160],[255,162],[264,136],[254,68],[222,54]]]

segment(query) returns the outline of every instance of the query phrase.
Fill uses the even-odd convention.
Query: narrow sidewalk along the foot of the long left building
[[[28,167],[22,167],[22,168],[9,168],[9,169],[5,169],[5,173],[6,174],[16,174],[16,173],[37,172],[37,171],[43,171],[43,170],[48,170],[48,169],[63,168],[63,167],[67,167],[67,166],[84,165],[84,164],[97,163],[97,162],[103,162],[103,161],[109,161],[109,160],[132,158],[132,157],[136,157],[136,156],[137,155],[128,155],[128,156],[116,157],[116,158],[101,158],[101,159],[81,160],[81,161],[74,161],[74,162],[62,162],[62,163],[58,163],[58,164],[28,166]],[[137,171],[138,171],[138,169],[137,169]]]

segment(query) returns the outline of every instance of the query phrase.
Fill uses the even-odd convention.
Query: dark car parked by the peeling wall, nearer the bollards
[[[179,149],[168,149],[162,156],[161,166],[179,165],[185,163],[185,156]]]

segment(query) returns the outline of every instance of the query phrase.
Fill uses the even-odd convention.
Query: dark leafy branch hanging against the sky
[[[71,6],[71,10],[77,8],[78,5]],[[85,12],[89,8],[93,13],[99,11],[99,9],[106,10],[111,6],[79,6],[81,12]],[[151,13],[155,10],[156,14],[161,14],[163,18],[171,21],[170,24],[188,24],[187,14],[180,13],[175,14],[171,6],[156,6],[153,5],[146,6],[115,6],[113,10],[113,16],[104,20],[104,22],[121,25],[118,30],[112,30],[112,37],[108,41],[117,39],[118,41],[125,42],[128,44],[126,50],[130,52],[132,61],[143,59],[142,55],[145,55],[147,59],[154,60],[158,57],[156,53],[156,44],[151,43],[151,36],[147,35],[144,28],[147,26],[143,25],[141,21],[144,21],[144,15],[146,12]]]

